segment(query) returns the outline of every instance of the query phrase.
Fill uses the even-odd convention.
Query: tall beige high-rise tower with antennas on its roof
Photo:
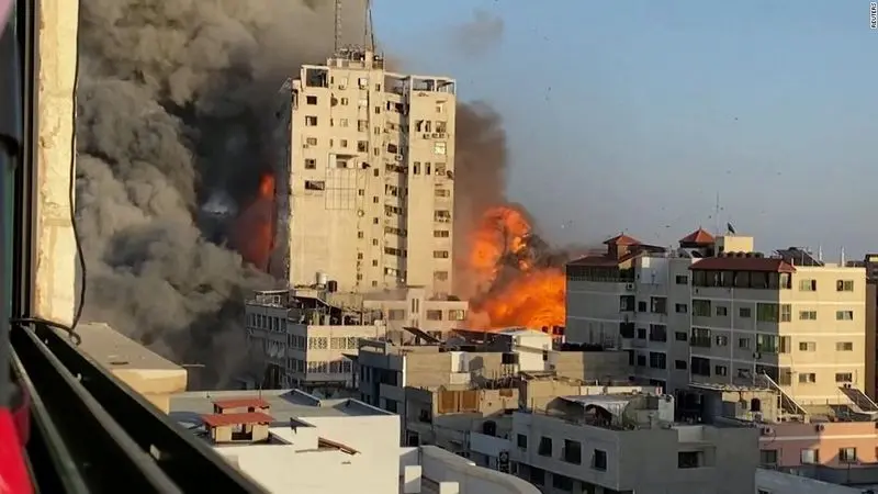
[[[291,287],[450,294],[455,82],[390,72],[370,50],[305,65],[279,92],[270,270]]]

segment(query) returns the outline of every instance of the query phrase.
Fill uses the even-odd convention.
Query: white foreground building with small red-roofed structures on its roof
[[[170,417],[269,493],[539,494],[436,447],[401,447],[399,416],[297,390],[171,397]]]

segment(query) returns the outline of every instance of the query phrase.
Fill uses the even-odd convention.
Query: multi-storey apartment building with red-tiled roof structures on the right
[[[767,258],[752,237],[702,229],[678,249],[606,245],[567,265],[567,340],[617,338],[635,377],[668,390],[764,373],[801,404],[862,400],[863,268],[795,248]]]

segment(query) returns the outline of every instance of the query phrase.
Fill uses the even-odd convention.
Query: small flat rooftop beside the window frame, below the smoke
[[[183,370],[180,366],[119,333],[106,323],[80,323],[79,349],[109,370]]]

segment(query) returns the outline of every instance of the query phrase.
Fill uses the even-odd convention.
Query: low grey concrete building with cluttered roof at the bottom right
[[[675,423],[669,395],[569,395],[513,414],[509,456],[545,492],[751,493],[758,430]]]

